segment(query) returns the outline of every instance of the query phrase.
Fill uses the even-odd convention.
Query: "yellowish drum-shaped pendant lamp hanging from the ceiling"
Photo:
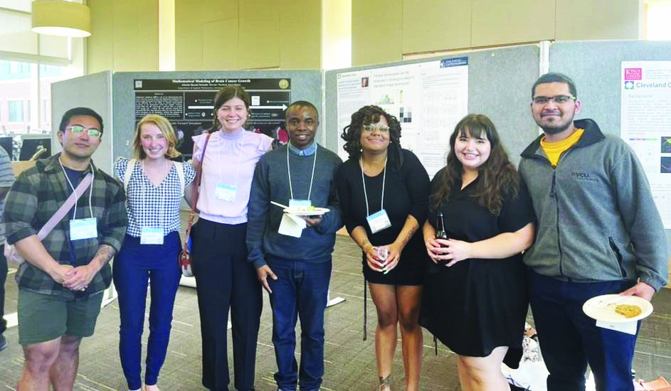
[[[84,38],[91,35],[88,6],[63,0],[33,1],[33,31],[48,36]]]

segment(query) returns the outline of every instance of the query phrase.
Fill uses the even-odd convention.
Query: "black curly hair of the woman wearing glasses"
[[[389,163],[397,170],[403,165],[403,152],[401,151],[401,124],[398,119],[388,114],[379,106],[364,106],[352,114],[352,121],[342,129],[340,137],[345,141],[344,150],[349,159],[359,160],[361,156],[361,129],[364,125],[376,124],[384,117],[389,124],[389,147],[387,156]]]

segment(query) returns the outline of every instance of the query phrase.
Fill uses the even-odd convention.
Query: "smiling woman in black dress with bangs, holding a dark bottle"
[[[485,115],[469,114],[455,127],[429,203],[423,234],[433,262],[420,323],[457,354],[462,390],[509,390],[500,367],[517,368],[522,357],[522,252],[534,240],[534,213]]]

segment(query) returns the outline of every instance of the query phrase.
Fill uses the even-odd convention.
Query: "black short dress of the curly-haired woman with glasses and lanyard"
[[[376,233],[366,221],[366,200],[364,186],[361,183],[361,166],[359,160],[345,161],[337,172],[338,198],[342,210],[342,220],[347,231],[352,233],[356,227],[364,227],[368,240],[374,246],[390,245],[403,229],[408,215],[412,215],[420,228],[408,241],[401,252],[401,259],[395,268],[387,274],[376,272],[366,263],[366,255],[362,253],[364,277],[374,284],[421,285],[423,284],[426,259],[426,247],[422,237],[421,226],[426,220],[430,181],[426,169],[417,156],[403,149],[403,165],[398,171],[388,164],[386,182],[384,184],[384,210],[389,215],[391,227]],[[368,195],[369,212],[376,213],[381,209],[382,179],[384,171],[370,177],[364,175],[366,195]]]

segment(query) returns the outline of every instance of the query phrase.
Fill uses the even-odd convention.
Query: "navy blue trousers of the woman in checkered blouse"
[[[126,235],[116,255],[112,275],[119,293],[119,355],[130,390],[142,387],[142,331],[147,302],[147,282],[151,281],[149,339],[144,383],[154,385],[165,361],[175,294],[181,272],[177,255],[181,250],[179,232],[170,232],[163,245],[140,245],[139,237]]]

